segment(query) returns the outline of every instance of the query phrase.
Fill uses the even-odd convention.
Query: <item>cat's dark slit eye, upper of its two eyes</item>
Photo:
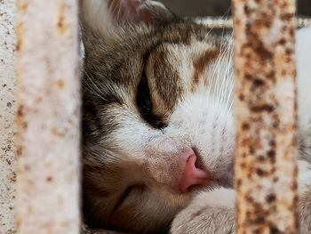
[[[162,129],[166,126],[161,117],[156,116],[153,112],[153,102],[151,100],[148,77],[143,72],[140,84],[137,89],[136,103],[140,109],[141,117],[151,126]]]

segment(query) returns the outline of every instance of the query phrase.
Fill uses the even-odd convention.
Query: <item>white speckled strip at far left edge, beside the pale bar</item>
[[[0,233],[15,232],[14,0],[0,1]]]

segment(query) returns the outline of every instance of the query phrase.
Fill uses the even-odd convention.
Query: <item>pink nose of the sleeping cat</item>
[[[196,155],[193,149],[188,149],[179,156],[179,166],[183,173],[179,179],[179,191],[186,192],[192,185],[203,185],[208,174],[195,166]]]

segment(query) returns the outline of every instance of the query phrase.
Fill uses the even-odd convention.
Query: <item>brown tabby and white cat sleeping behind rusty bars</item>
[[[84,221],[135,233],[234,232],[230,37],[154,1],[81,4]],[[311,230],[306,36],[298,40],[301,233]]]

